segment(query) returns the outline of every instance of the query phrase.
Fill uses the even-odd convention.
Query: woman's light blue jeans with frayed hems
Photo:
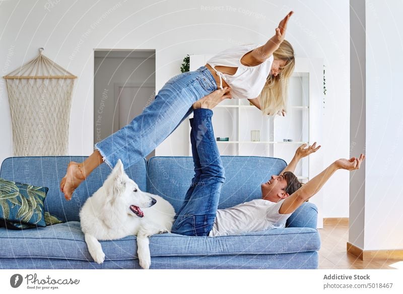
[[[217,90],[206,67],[171,78],[142,114],[116,133],[95,144],[103,160],[112,168],[117,160],[124,167],[151,153],[192,112],[192,104]]]

